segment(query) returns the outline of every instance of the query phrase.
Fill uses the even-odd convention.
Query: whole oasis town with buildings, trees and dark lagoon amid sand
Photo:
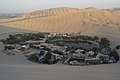
[[[5,54],[23,54],[28,60],[42,64],[83,66],[116,63],[119,60],[119,45],[111,49],[107,38],[80,33],[11,34],[1,41],[5,45]]]

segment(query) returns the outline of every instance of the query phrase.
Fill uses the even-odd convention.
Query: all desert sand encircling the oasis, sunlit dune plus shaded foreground
[[[22,17],[23,20],[21,20],[21,18],[18,20],[17,18],[13,19],[17,21],[10,22],[11,19],[7,19],[7,23],[5,22],[6,20],[0,20],[5,22],[0,25],[14,27],[8,28],[1,26],[0,39],[6,38],[9,33],[22,33],[23,30],[16,29],[20,28],[50,32],[83,32],[83,34],[110,37],[116,44],[120,42],[120,27],[118,27],[120,25],[120,11],[104,11],[98,9],[79,10],[73,8],[55,8],[52,10],[53,12],[51,13],[54,13],[54,15],[49,14],[49,16],[47,16],[45,15],[47,10],[43,10],[43,12],[40,10],[35,13],[26,14],[27,16],[24,15]],[[44,17],[38,18],[36,14],[39,14],[39,17],[44,15]],[[107,22],[109,24],[106,24]],[[91,66],[68,66],[62,64],[45,65],[30,62],[22,54],[8,56],[3,53],[3,48],[4,45],[0,42],[0,80],[120,79],[120,62],[116,64]]]

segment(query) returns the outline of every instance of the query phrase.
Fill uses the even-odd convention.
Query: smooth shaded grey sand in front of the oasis
[[[93,66],[45,65],[22,54],[8,56],[0,43],[0,80],[119,80],[120,62]]]

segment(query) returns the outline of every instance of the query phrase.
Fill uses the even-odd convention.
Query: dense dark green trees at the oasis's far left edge
[[[26,34],[9,35],[7,39],[2,39],[1,41],[4,44],[16,44],[28,40],[40,40],[41,38],[45,38],[45,34],[48,33],[26,33]]]

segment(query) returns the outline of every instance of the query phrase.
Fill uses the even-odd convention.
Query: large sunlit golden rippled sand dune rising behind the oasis
[[[120,10],[53,8],[0,19],[0,25],[41,32],[73,33],[108,37],[120,43]]]

